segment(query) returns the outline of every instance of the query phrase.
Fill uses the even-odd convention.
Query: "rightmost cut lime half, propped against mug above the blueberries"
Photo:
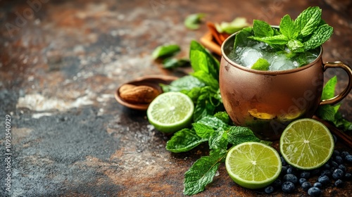
[[[334,139],[324,124],[303,118],[291,122],[284,129],[280,151],[290,165],[313,170],[329,160],[334,151]]]

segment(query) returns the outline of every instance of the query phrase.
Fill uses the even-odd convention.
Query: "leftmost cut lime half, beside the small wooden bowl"
[[[151,101],[146,116],[159,131],[172,133],[191,123],[193,111],[194,103],[186,94],[166,92]]]

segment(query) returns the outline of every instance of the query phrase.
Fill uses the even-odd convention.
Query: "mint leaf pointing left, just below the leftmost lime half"
[[[203,141],[208,141],[208,139],[201,138],[194,130],[182,129],[175,132],[171,139],[166,143],[166,150],[172,153],[187,152],[201,144]]]

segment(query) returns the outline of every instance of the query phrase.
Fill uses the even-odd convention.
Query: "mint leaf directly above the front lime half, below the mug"
[[[247,127],[231,127],[229,132],[227,132],[228,141],[230,144],[236,146],[237,144],[244,143],[246,141],[257,141],[263,144],[270,144],[270,141],[263,141],[258,139],[252,132],[251,129]]]

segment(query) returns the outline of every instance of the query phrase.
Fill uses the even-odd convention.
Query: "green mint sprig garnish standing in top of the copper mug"
[[[269,30],[268,23],[253,20],[254,36],[249,38],[265,42],[281,51],[287,46],[291,53],[315,49],[326,42],[333,32],[333,28],[325,24],[321,16],[322,10],[317,6],[307,8],[296,20],[284,15],[279,24],[279,34],[273,34],[274,30]]]

